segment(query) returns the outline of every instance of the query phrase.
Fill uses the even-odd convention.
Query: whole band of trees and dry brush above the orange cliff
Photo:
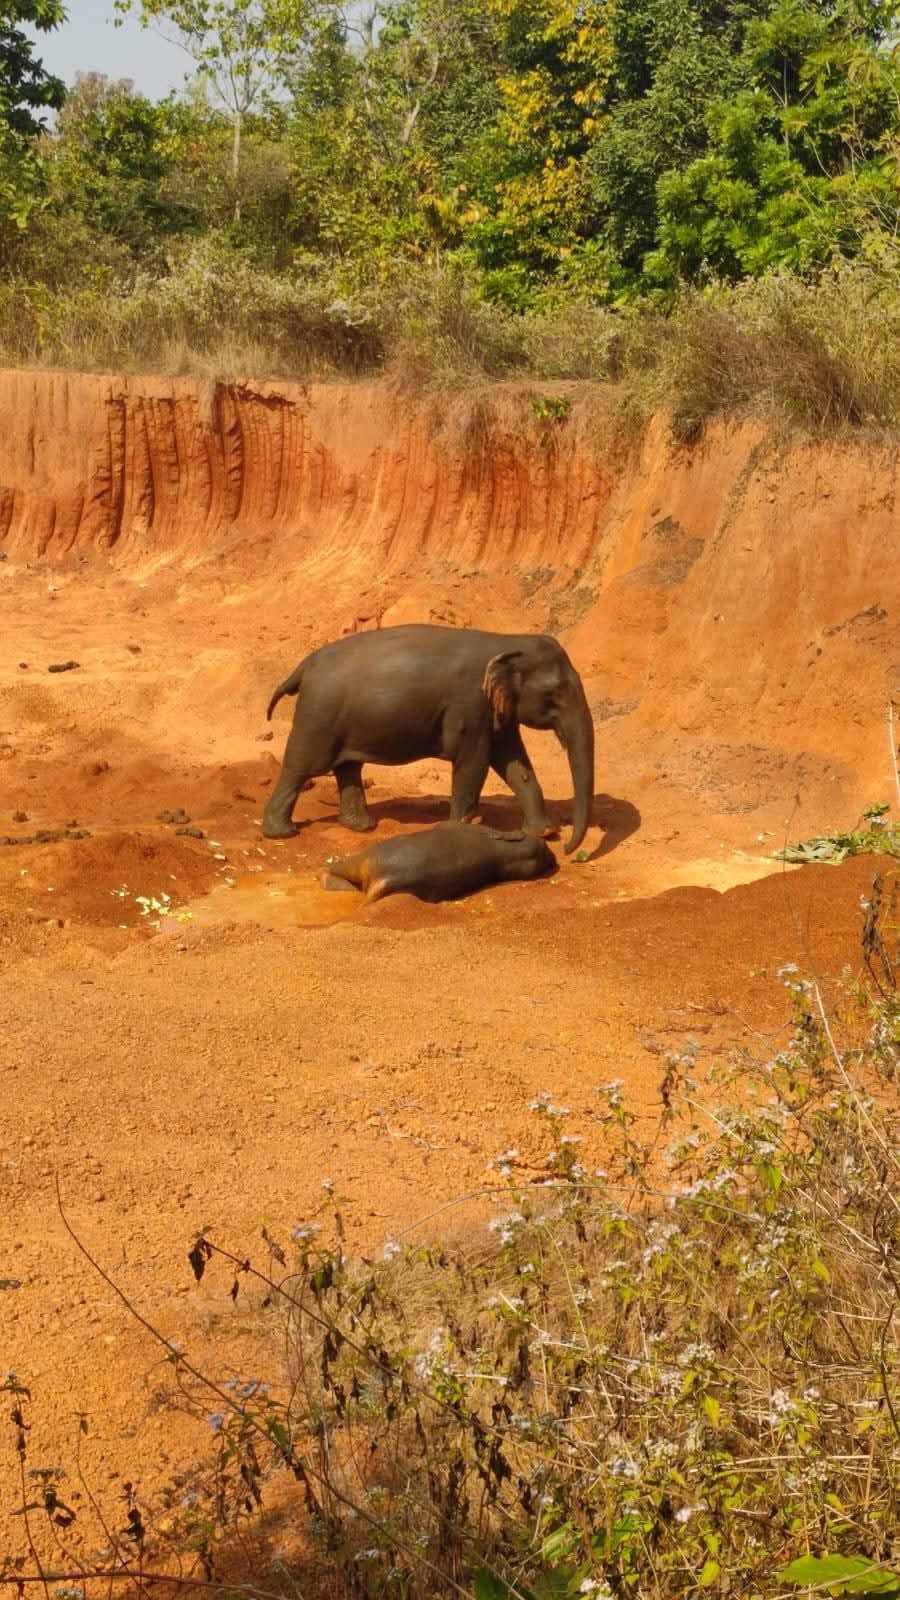
[[[59,14],[27,5],[46,26]],[[359,371],[368,349],[372,370],[428,384],[610,379],[633,413],[671,406],[685,442],[727,406],[895,422],[892,0],[117,10],[176,32],[197,69],[184,96],[152,104],[91,77],[35,138],[27,98],[56,90],[34,86],[34,62],[3,86],[0,56],[0,109],[18,93],[32,118],[0,118],[2,299],[24,307],[0,322],[6,358],[159,366],[175,349],[208,370],[211,331],[197,342],[179,291],[207,250],[221,349],[269,374],[293,374],[288,350],[298,371],[341,352]],[[247,270],[272,278],[263,304],[315,283],[335,325],[349,307],[375,339],[322,333],[314,354],[303,318],[296,339],[272,342],[267,317],[239,328]]]

